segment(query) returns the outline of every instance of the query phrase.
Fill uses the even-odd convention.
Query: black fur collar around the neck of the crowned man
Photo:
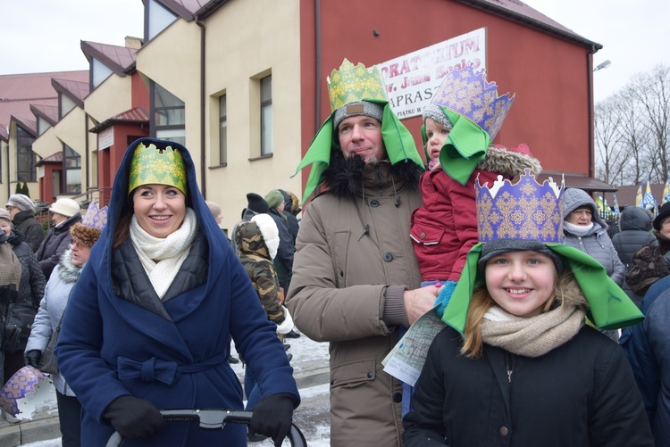
[[[378,170],[376,175],[373,171]],[[390,175],[384,175],[389,172]],[[394,187],[396,190],[408,186],[418,188],[419,178],[423,169],[413,161],[369,161],[365,163],[362,157],[352,156],[345,158],[341,151],[333,151],[331,164],[323,171],[325,185],[328,192],[338,197],[359,197],[368,194],[377,194],[379,189]],[[374,191],[374,193],[372,193]]]

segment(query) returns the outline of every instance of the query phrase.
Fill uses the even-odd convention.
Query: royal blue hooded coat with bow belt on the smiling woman
[[[186,163],[187,206],[195,211],[199,229],[172,286],[184,278],[188,283],[197,269],[204,272],[204,281],[190,289],[177,285],[185,290],[157,302],[154,310],[125,296],[130,287],[138,293],[130,299],[137,301],[144,293],[142,285],[150,285],[144,269],[120,273],[127,266],[119,269],[113,262],[123,248],[113,249],[113,234],[122,205],[129,201],[130,161],[140,141],[165,145],[142,138],[126,151],[114,179],[107,226],[72,291],[56,348],[63,376],[83,406],[82,445],[105,445],[114,432],[104,418],[105,410],[123,395],[147,399],[158,409],[243,410],[242,388],[227,361],[230,336],[262,396],[290,393],[296,402],[300,400],[277,327],[267,319],[247,273],[200,195],[195,166],[181,145],[172,147],[180,150]],[[198,240],[201,249],[192,257]],[[124,445],[241,446],[247,445],[246,435],[246,427],[236,424],[203,431],[195,423],[172,422],[159,434]]]

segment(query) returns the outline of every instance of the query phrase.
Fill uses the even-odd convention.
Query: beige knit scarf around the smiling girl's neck
[[[565,344],[584,326],[584,312],[564,303],[536,317],[520,319],[493,307],[482,319],[482,341],[524,357],[540,357]]]

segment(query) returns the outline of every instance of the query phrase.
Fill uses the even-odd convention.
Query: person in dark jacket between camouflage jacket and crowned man
[[[279,189],[272,189],[266,194],[265,202],[270,207],[270,217],[279,228],[280,245],[277,249],[277,256],[274,257],[274,269],[277,270],[281,288],[284,289],[284,293],[288,294],[293,271],[293,252],[296,251],[296,248],[289,229],[289,219],[284,215],[286,203]]]

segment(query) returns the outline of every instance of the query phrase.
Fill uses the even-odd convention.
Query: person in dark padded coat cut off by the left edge
[[[19,282],[18,295],[13,301],[14,305],[28,308],[37,313],[39,302],[44,296],[46,279],[39,268],[35,253],[30,250],[28,244],[23,242],[23,235],[12,229],[10,223],[10,213],[6,210],[0,210],[0,230],[1,236],[6,237],[16,257],[21,263],[21,280]],[[0,362],[0,368],[4,363],[4,382],[9,380],[13,374],[25,366],[23,362],[23,348],[26,346],[30,334],[30,327],[21,327],[17,343],[12,346],[12,351],[6,349],[0,352],[4,353],[4,362]],[[5,347],[6,348],[6,347]],[[0,375],[3,377],[3,375]]]

